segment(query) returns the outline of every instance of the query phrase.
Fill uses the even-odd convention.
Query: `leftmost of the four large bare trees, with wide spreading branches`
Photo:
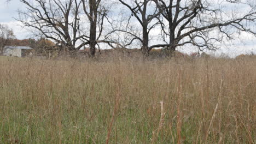
[[[19,10],[19,21],[26,27],[37,29],[38,36],[54,40],[57,45],[68,50],[80,49],[85,44],[77,46],[80,38],[78,0],[35,0],[33,2],[20,0],[27,5],[27,11]]]

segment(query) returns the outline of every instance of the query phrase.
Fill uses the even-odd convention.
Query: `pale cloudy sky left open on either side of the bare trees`
[[[14,18],[18,17],[18,9],[26,9],[26,6],[22,4],[19,0],[12,0],[7,3],[5,0],[0,0],[0,23],[7,25],[9,28],[13,29],[14,34],[17,39],[27,39],[33,37],[28,28],[22,27],[21,23],[16,21]],[[237,42],[238,41],[238,42]],[[236,43],[235,45],[232,43]],[[185,53],[197,52],[196,49],[191,50],[187,47],[180,47],[179,51]],[[224,45],[222,49],[217,51],[207,51],[214,56],[228,55],[230,57],[235,57],[241,54],[248,53],[256,54],[256,38],[252,35],[244,34],[240,38]]]

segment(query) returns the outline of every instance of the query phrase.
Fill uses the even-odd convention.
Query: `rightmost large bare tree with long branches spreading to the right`
[[[243,0],[154,1],[158,2],[158,8],[162,10],[162,19],[159,21],[165,41],[165,44],[155,47],[174,51],[177,46],[191,44],[199,50],[214,50],[218,48],[215,44],[222,42],[225,37],[232,39],[232,36],[241,32],[256,35],[250,29],[256,20],[255,3],[253,5]],[[232,6],[245,9],[234,12]]]

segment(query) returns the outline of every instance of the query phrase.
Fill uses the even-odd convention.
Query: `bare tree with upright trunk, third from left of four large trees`
[[[153,48],[153,46],[149,46],[149,32],[158,25],[158,22],[153,23],[153,25],[149,25],[150,22],[153,21],[156,17],[159,16],[160,11],[157,7],[152,9],[152,13],[149,13],[148,6],[157,3],[152,0],[132,0],[125,1],[119,0],[121,4],[125,5],[125,7],[129,8],[131,11],[131,16],[136,17],[139,25],[142,27],[142,38],[138,35],[132,34],[134,39],[138,39],[142,43],[141,50],[144,54],[148,55],[149,51]],[[129,18],[131,19],[131,17]]]

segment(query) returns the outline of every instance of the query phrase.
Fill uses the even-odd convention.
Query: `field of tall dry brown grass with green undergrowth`
[[[0,143],[256,143],[255,71],[255,57],[0,57]]]

